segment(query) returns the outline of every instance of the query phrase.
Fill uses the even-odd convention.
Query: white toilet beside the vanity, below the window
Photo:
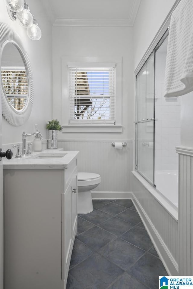
[[[78,214],[93,211],[91,191],[101,182],[99,174],[92,172],[78,172]]]

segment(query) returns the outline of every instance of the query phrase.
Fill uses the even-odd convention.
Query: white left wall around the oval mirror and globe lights
[[[22,132],[32,133],[34,123],[38,124],[38,129],[43,133],[43,137],[47,138],[46,121],[52,119],[52,26],[47,20],[40,1],[28,0],[27,4],[42,30],[42,38],[39,41],[28,38],[26,29],[21,27],[17,21],[10,19],[5,2],[0,1],[0,21],[8,23],[21,37],[24,48],[29,54],[34,79],[34,103],[31,115],[27,122],[19,127],[10,125],[2,117],[3,144],[21,142]]]

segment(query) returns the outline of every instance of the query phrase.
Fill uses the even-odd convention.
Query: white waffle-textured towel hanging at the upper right
[[[193,91],[193,0],[181,0],[169,26],[164,97]]]

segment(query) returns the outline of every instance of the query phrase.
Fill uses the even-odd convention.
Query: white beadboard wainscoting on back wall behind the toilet
[[[110,140],[58,140],[58,148],[68,151],[80,151],[78,154],[78,172],[100,174],[101,184],[95,191],[130,192],[133,162],[132,140],[126,147],[115,149]]]

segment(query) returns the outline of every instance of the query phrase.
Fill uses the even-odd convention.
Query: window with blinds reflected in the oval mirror
[[[2,83],[9,103],[16,110],[24,108],[28,96],[28,82],[25,68],[2,67]]]

